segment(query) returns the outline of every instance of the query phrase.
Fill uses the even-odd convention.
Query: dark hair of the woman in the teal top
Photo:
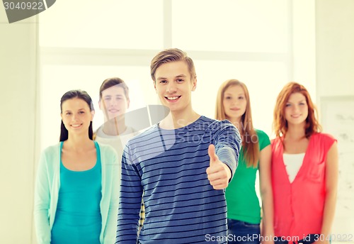
[[[91,96],[89,96],[89,94],[87,94],[86,91],[71,90],[71,91],[65,92],[65,94],[62,96],[62,99],[60,99],[60,113],[62,113],[63,102],[67,101],[69,99],[75,99],[75,98],[86,101],[86,104],[89,105],[90,111],[95,111],[95,109],[93,108]],[[67,138],[68,138],[68,131],[67,131],[67,128],[65,128],[64,123],[62,121],[62,124],[60,125],[59,141],[67,140]],[[92,139],[93,138],[92,121],[90,122],[90,126],[89,126],[89,138],[91,140],[93,140]]]

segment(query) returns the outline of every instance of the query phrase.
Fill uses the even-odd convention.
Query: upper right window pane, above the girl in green
[[[178,0],[172,3],[173,46],[233,52],[288,50],[289,1]]]

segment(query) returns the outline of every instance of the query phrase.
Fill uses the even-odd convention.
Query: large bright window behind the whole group
[[[159,50],[171,47],[195,61],[195,111],[213,118],[219,85],[239,79],[249,87],[256,128],[270,135],[275,98],[286,82],[300,78],[314,96],[314,79],[301,79],[306,69],[307,78],[314,77],[309,61],[303,62],[314,50],[311,35],[302,35],[314,23],[310,2],[57,1],[39,16],[41,148],[58,140],[59,99],[70,89],[93,97],[94,128],[103,123],[98,89],[108,77],[127,82],[131,110],[159,103],[149,65]]]

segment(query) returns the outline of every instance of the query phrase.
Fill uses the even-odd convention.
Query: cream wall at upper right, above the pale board
[[[316,0],[319,96],[354,95],[354,1]]]

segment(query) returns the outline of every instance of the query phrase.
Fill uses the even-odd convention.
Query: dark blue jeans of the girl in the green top
[[[227,219],[227,243],[229,244],[259,244],[261,228],[259,223],[247,223]]]

